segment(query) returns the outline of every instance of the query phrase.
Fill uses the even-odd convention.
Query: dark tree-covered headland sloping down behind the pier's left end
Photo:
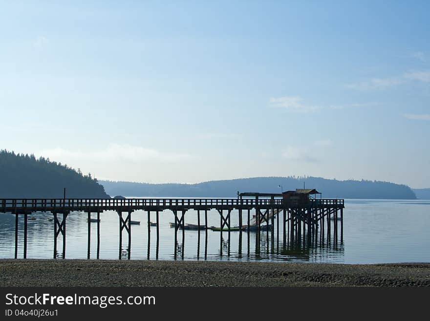
[[[0,198],[109,198],[91,174],[49,158],[0,150]]]

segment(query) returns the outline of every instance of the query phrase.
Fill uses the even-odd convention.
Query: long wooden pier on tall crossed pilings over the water
[[[148,258],[151,233],[151,212],[156,213],[157,250],[159,239],[159,213],[171,211],[174,216],[174,242],[175,257],[177,255],[178,230],[182,232],[182,257],[185,233],[185,214],[187,211],[197,212],[198,232],[203,226],[200,222],[200,214],[204,213],[204,230],[208,233],[208,211],[216,210],[220,217],[220,239],[222,246],[222,231],[225,230],[230,239],[232,211],[238,211],[239,243],[242,241],[242,230],[251,232],[251,227],[256,233],[256,253],[259,251],[260,233],[267,231],[267,244],[269,233],[274,239],[275,219],[276,233],[279,246],[280,220],[283,235],[283,245],[289,248],[312,247],[318,244],[343,243],[343,199],[305,199],[286,200],[282,194],[248,193],[252,198],[243,198],[247,193],[242,193],[240,198],[127,198],[127,199],[0,199],[0,213],[15,214],[15,258],[18,257],[18,217],[24,215],[24,251],[27,255],[27,216],[36,212],[50,213],[53,215],[54,257],[57,257],[57,238],[63,236],[63,252],[65,256],[66,219],[68,215],[76,212],[84,212],[88,217],[88,249],[87,257],[90,258],[90,221],[91,213],[97,214],[97,258],[100,252],[100,214],[105,211],[115,211],[119,217],[119,258],[122,257],[122,235],[125,230],[128,234],[128,258],[131,248],[131,215],[135,211],[144,211],[148,214]],[[243,211],[247,214],[246,224],[242,222]],[[255,213],[254,217],[251,217]],[[255,222],[254,226],[252,222]],[[340,226],[338,226],[340,225]],[[340,237],[338,235],[340,230]],[[248,252],[249,238],[248,234]],[[332,239],[331,239],[332,238]],[[198,234],[200,241],[200,233]],[[228,247],[230,242],[228,242]],[[272,242],[272,246],[274,246]],[[207,248],[207,243],[205,245]],[[241,248],[241,245],[240,245]],[[241,251],[241,250],[240,250]],[[158,254],[158,251],[157,251]],[[222,254],[222,251],[221,251]],[[198,253],[199,255],[199,253]],[[206,257],[206,250],[205,250]]]

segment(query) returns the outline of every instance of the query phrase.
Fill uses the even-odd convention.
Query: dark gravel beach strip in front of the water
[[[430,263],[1,259],[0,286],[430,286]]]

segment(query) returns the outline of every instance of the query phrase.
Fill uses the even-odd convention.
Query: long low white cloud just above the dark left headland
[[[49,157],[52,160],[65,163],[80,161],[80,160],[97,160],[100,162],[165,162],[177,163],[192,161],[195,156],[185,153],[170,153],[159,150],[143,148],[131,145],[112,144],[105,149],[100,150],[66,150],[63,148],[54,148],[41,150],[40,155]]]

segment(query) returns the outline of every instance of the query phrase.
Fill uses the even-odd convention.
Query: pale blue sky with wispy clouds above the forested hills
[[[0,148],[110,180],[430,187],[427,1],[0,10]]]

